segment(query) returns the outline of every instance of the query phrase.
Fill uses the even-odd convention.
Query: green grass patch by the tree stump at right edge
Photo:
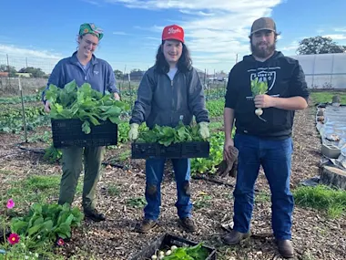
[[[324,185],[300,186],[293,191],[293,196],[297,205],[325,211],[332,219],[340,218],[346,213],[346,192],[341,190],[333,190]]]

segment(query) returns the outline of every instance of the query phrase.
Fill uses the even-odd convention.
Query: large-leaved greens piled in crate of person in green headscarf
[[[99,120],[120,122],[120,114],[128,109],[128,105],[114,99],[112,94],[102,95],[84,83],[78,88],[73,80],[65,88],[57,88],[51,84],[46,91],[46,99],[50,103],[50,117],[55,120],[79,119],[83,121],[82,130],[91,132],[90,123],[97,126]]]

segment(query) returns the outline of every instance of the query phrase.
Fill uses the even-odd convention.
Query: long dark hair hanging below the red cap
[[[169,64],[163,54],[162,47],[165,44],[165,41],[162,41],[162,44],[158,47],[157,60],[155,62],[155,68],[158,73],[166,74],[169,71]],[[188,72],[192,66],[192,60],[189,56],[188,47],[185,44],[182,44],[183,50],[181,57],[178,60],[177,68],[181,72]]]

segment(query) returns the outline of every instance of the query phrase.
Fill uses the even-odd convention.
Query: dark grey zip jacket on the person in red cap
[[[193,116],[199,123],[209,122],[203,86],[198,72],[191,68],[187,73],[177,71],[171,81],[167,74],[149,68],[137,91],[137,100],[129,123],[146,122],[149,129],[159,126],[176,127],[180,116],[183,123],[191,123]]]

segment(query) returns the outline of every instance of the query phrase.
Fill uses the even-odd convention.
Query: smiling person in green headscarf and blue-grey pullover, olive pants
[[[92,23],[81,25],[77,36],[77,50],[71,57],[63,58],[56,64],[48,78],[46,89],[49,88],[50,84],[64,88],[68,82],[76,80],[78,86],[89,83],[92,88],[103,94],[106,91],[114,93],[115,99],[119,100],[113,68],[107,61],[94,55],[102,37],[103,30],[101,28]],[[49,112],[49,102],[45,99],[45,92],[43,91],[42,100],[46,112]],[[85,177],[82,201],[84,213],[87,218],[97,222],[106,219],[105,215],[98,213],[96,209],[96,188],[100,178],[103,152],[104,147],[87,147],[85,149],[68,147],[62,149],[63,175],[60,182],[58,203],[73,203],[77,181],[82,171],[82,159],[84,158]]]

